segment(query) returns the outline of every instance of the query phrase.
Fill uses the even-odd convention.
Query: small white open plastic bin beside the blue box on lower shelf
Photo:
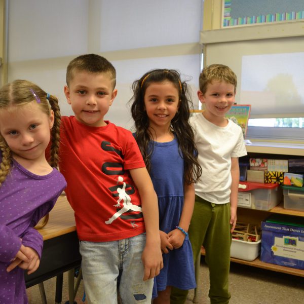
[[[247,242],[232,239],[230,256],[246,261],[253,261],[258,257],[260,248],[261,240],[257,242]]]

